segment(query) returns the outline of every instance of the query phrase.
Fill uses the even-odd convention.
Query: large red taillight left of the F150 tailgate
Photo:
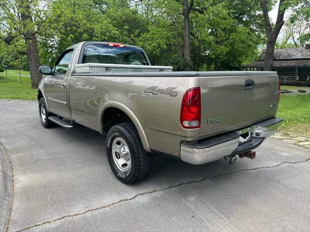
[[[200,128],[202,98],[200,88],[186,91],[181,105],[180,123],[183,128]]]

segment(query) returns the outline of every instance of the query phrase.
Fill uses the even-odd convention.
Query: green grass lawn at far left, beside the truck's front
[[[30,77],[0,74],[0,98],[36,100],[37,90],[31,88]]]

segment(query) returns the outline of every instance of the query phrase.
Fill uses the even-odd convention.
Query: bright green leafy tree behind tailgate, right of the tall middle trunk
[[[210,6],[203,15],[192,15],[196,70],[239,70],[243,62],[256,58],[260,37],[235,15],[224,3]]]

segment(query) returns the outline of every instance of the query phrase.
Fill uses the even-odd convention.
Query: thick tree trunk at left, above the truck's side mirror
[[[26,0],[23,4],[19,4],[20,8],[20,20],[24,28],[31,28],[30,25],[33,23],[31,15],[31,6],[30,1]],[[29,25],[30,22],[30,25]],[[31,87],[38,88],[39,82],[42,78],[41,73],[39,72],[40,61],[37,40],[34,33],[34,28],[27,31],[22,31],[24,36],[25,43],[27,46],[27,60],[29,64],[30,78],[31,78]]]

